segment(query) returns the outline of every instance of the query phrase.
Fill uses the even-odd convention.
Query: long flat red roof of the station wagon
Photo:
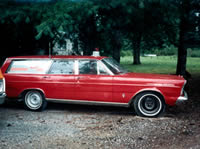
[[[74,56],[74,55],[56,55],[56,56],[14,56],[9,59],[96,59],[101,60],[107,58],[106,56]]]

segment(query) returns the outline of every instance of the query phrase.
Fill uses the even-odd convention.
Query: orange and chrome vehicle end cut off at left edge
[[[5,93],[5,78],[0,69],[0,104],[3,104],[5,101],[6,93]]]

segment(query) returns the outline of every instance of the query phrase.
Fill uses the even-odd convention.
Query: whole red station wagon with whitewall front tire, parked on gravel
[[[187,100],[181,76],[130,73],[102,56],[26,56],[2,66],[8,98],[23,99],[29,110],[47,102],[132,107],[137,115],[157,117],[166,105]]]

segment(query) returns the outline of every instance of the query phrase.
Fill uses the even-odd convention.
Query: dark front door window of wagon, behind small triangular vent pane
[[[79,74],[97,74],[96,60],[80,60]]]

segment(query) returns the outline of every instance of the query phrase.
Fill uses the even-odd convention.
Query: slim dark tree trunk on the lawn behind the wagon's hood
[[[140,62],[140,48],[141,48],[141,40],[142,40],[142,35],[138,34],[136,37],[136,40],[133,41],[134,49],[133,49],[133,64],[134,65],[139,65],[141,64]]]

